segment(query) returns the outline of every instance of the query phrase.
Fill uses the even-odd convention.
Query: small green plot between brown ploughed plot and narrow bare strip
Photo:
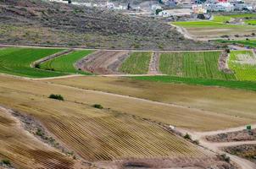
[[[152,52],[133,52],[120,67],[126,74],[147,74]]]

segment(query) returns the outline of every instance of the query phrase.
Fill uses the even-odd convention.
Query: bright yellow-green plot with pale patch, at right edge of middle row
[[[256,57],[251,51],[232,51],[229,68],[238,80],[256,81]]]

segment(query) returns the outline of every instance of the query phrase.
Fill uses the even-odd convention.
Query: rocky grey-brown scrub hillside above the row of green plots
[[[40,0],[0,1],[0,43],[165,50],[214,48],[170,25],[113,11]]]

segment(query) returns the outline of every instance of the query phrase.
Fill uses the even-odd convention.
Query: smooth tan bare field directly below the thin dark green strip
[[[247,117],[254,123],[256,119],[254,102],[256,93],[253,91],[109,77],[75,77],[50,81],[81,89],[101,90],[150,101],[197,108],[200,111],[225,114],[234,118]],[[237,124],[237,126],[239,125]]]

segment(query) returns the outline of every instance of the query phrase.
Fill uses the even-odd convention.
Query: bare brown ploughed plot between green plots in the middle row
[[[120,74],[118,68],[129,57],[125,51],[97,51],[78,61],[75,65],[93,74]]]

